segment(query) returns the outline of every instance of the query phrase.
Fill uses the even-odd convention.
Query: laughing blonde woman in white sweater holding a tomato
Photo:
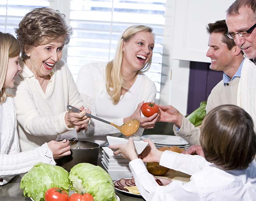
[[[155,84],[143,72],[150,67],[154,48],[154,35],[148,26],[130,26],[120,37],[113,60],[108,63],[95,62],[84,65],[77,77],[77,87],[92,114],[122,125],[130,119],[138,119],[139,139],[145,128],[153,128],[157,114],[141,117],[144,102],[154,102]],[[113,126],[91,120],[85,139],[101,146],[106,135],[120,136]]]

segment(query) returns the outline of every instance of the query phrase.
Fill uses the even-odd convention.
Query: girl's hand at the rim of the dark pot
[[[51,149],[54,159],[62,158],[63,156],[68,156],[71,154],[71,147],[69,145],[69,141],[66,139],[63,139],[63,141],[60,142],[52,140],[47,143],[47,146],[49,149]]]

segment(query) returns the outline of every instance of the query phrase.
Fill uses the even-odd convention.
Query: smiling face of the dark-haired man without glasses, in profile
[[[223,34],[221,33],[211,33],[209,35],[209,50],[206,56],[211,58],[210,69],[225,72],[232,64],[234,55],[233,51],[228,49],[226,43],[222,42],[222,38]]]

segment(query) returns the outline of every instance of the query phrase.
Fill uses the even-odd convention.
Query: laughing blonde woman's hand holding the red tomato
[[[143,103],[144,101],[139,103],[135,112],[130,117],[124,118],[124,122],[130,119],[138,119],[139,127],[142,127],[144,129],[153,129],[155,127],[155,123],[157,122],[159,114],[155,113],[151,117],[141,117],[141,106],[143,105]]]

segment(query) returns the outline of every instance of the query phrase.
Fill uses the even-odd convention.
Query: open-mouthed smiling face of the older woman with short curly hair
[[[45,45],[31,47],[25,64],[38,77],[48,76],[57,61],[62,57],[63,42],[49,42]]]

